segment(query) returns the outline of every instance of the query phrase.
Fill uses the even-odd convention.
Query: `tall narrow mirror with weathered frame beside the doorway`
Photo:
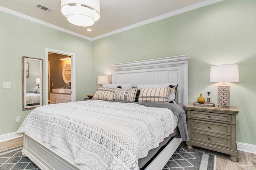
[[[43,59],[22,56],[22,110],[43,105]]]

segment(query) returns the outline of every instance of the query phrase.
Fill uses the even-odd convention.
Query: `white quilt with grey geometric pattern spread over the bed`
[[[18,132],[58,147],[92,170],[138,170],[138,158],[176,126],[170,109],[88,100],[37,107]]]

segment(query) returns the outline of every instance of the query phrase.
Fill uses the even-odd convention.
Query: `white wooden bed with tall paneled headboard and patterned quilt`
[[[175,102],[187,105],[189,58],[190,55],[183,55],[112,64],[110,65],[112,83],[127,84],[132,82],[132,86],[136,87],[138,84],[174,82],[178,84]],[[153,103],[153,106],[150,106],[150,103]],[[84,107],[85,105],[86,107]],[[164,106],[160,108],[158,105]],[[96,109],[93,109],[95,107],[100,109],[96,111]],[[112,109],[106,110],[107,107]],[[54,116],[52,110],[56,111]],[[118,110],[119,112],[122,110],[120,112],[122,115],[118,113]],[[145,110],[150,113],[151,117],[145,116]],[[186,116],[184,111],[181,110],[182,107],[172,103],[110,102],[104,100],[37,107],[28,115],[24,121],[25,123],[22,123],[19,129],[19,132],[23,133],[24,139],[22,152],[42,170],[162,169],[180,145],[182,139],[188,140],[186,138],[187,134],[182,132],[186,132],[186,125],[184,125]],[[44,114],[42,114],[43,112]],[[71,119],[68,113],[74,112],[79,112],[80,115],[86,113],[89,116],[81,118],[71,114]],[[101,113],[104,113],[104,115]],[[117,119],[112,119],[109,116],[117,117]],[[24,125],[26,121],[30,124]],[[144,122],[144,125],[139,124],[138,121]],[[43,122],[47,122],[47,126]],[[84,122],[86,122],[86,125],[83,124]],[[52,131],[63,131],[59,128],[60,124],[65,127],[64,135],[60,135],[60,133],[58,135],[52,134]],[[30,129],[30,125],[33,125],[34,129]],[[88,127],[89,125],[90,130],[80,129],[80,126]],[[115,127],[114,125],[118,126]],[[176,127],[177,125],[178,127]],[[155,129],[164,129],[164,131],[160,133]],[[42,131],[47,131],[47,135],[41,133]],[[80,135],[74,135],[74,133]],[[86,140],[82,139],[83,134],[89,136],[91,141],[87,138]],[[115,136],[116,134],[122,135]],[[88,143],[88,141],[90,142]],[[100,145],[104,145],[104,147],[100,148]],[[89,148],[89,150],[94,148],[94,150],[84,151],[84,147]],[[155,149],[156,151],[153,151]],[[149,156],[150,158],[148,158]],[[109,161],[112,162],[110,163],[111,166],[108,164]]]

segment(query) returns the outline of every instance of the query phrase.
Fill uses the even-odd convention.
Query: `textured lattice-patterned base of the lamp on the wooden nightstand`
[[[229,107],[230,105],[230,90],[229,86],[218,86],[218,106]]]

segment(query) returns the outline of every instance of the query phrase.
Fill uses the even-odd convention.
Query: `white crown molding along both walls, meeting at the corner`
[[[121,29],[117,29],[115,31],[111,31],[109,33],[105,33],[105,34],[102,34],[102,35],[99,35],[99,36],[96,36],[96,37],[87,37],[85,35],[81,35],[79,33],[75,33],[73,31],[69,31],[67,29],[64,29],[64,28],[61,28],[61,27],[58,27],[56,25],[52,25],[50,23],[47,23],[47,22],[44,22],[44,21],[41,21],[41,20],[38,20],[36,18],[32,18],[30,16],[27,16],[27,15],[24,15],[24,14],[21,14],[19,12],[16,12],[16,11],[13,11],[13,10],[10,10],[8,8],[4,8],[2,6],[0,6],[0,11],[2,12],[6,12],[8,14],[12,14],[14,16],[18,16],[20,18],[24,18],[26,20],[29,20],[29,21],[32,21],[32,22],[35,22],[35,23],[39,23],[41,25],[44,25],[46,27],[50,27],[50,28],[53,28],[53,29],[57,29],[59,31],[62,31],[62,32],[65,32],[65,33],[68,33],[68,34],[71,34],[71,35],[75,35],[77,37],[81,37],[81,38],[84,38],[84,39],[88,39],[90,41],[94,41],[94,40],[97,40],[97,39],[101,39],[101,38],[104,38],[104,37],[108,37],[110,35],[114,35],[116,33],[120,33],[120,32],[123,32],[123,31],[127,31],[129,29],[133,29],[133,28],[136,28],[136,27],[140,27],[142,25],[146,25],[148,23],[152,23],[152,22],[155,22],[155,21],[159,21],[159,20],[163,20],[165,18],[169,18],[171,16],[176,16],[178,14],[182,14],[184,12],[188,12],[188,11],[191,11],[191,10],[195,10],[197,8],[201,8],[201,7],[204,7],[204,6],[207,6],[207,5],[210,5],[210,4],[214,4],[216,2],[220,2],[220,1],[223,1],[223,0],[204,0],[202,2],[198,2],[196,4],[193,4],[193,5],[190,5],[190,6],[187,6],[187,7],[184,7],[184,8],[181,8],[179,10],[175,10],[175,11],[172,11],[172,12],[169,12],[167,14],[164,14],[164,15],[161,15],[161,16],[157,16],[157,17],[154,17],[154,18],[151,18],[149,20],[145,20],[145,21],[142,21],[142,22],[139,22],[139,23],[135,23],[133,25],[129,25],[127,27],[123,27]]]

